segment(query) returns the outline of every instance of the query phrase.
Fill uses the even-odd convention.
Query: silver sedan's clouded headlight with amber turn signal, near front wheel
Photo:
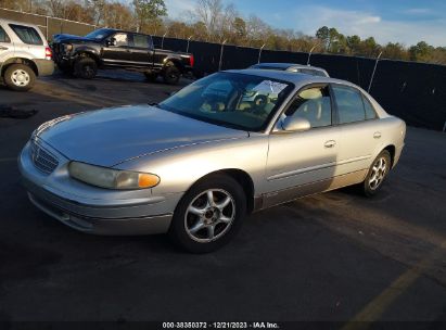
[[[144,189],[160,183],[154,174],[119,170],[106,167],[72,162],[69,175],[82,182],[107,189]]]

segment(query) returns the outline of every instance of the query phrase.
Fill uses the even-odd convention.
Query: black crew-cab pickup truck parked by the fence
[[[51,45],[54,62],[64,73],[91,79],[98,68],[141,72],[150,80],[162,75],[167,84],[193,68],[193,54],[155,49],[149,35],[100,28],[85,37],[55,35]]]

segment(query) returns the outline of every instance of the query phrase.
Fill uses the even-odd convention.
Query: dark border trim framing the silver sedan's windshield
[[[166,104],[163,104],[166,100],[168,100],[169,98],[167,98],[166,100],[164,100],[163,102],[157,104],[158,109],[171,112],[171,113],[176,113],[178,115],[188,117],[188,118],[192,118],[195,120],[200,120],[200,122],[204,122],[207,124],[212,124],[212,125],[217,125],[217,126],[221,126],[221,127],[226,127],[226,128],[231,128],[231,129],[238,129],[238,130],[243,130],[243,131],[247,131],[247,132],[265,132],[266,130],[268,130],[268,127],[271,123],[271,120],[273,120],[273,118],[276,117],[276,114],[278,111],[280,111],[280,109],[282,109],[283,104],[286,102],[286,100],[289,99],[289,97],[293,93],[293,91],[295,90],[295,84],[292,81],[288,81],[288,80],[282,80],[282,79],[277,79],[277,78],[272,78],[272,77],[268,77],[268,76],[260,76],[260,75],[250,75],[250,74],[242,74],[242,73],[233,73],[233,72],[220,72],[220,73],[215,73],[213,75],[219,75],[219,74],[229,74],[229,75],[239,75],[239,76],[251,76],[251,77],[259,77],[259,78],[265,78],[265,79],[269,79],[269,80],[273,80],[273,81],[278,81],[278,82],[282,82],[288,85],[286,89],[288,92],[285,93],[285,96],[281,99],[280,103],[276,104],[273,111],[271,111],[268,114],[268,117],[265,119],[265,122],[263,123],[263,125],[258,128],[251,128],[251,127],[246,127],[243,125],[238,125],[235,123],[229,123],[229,122],[225,122],[225,120],[218,120],[218,119],[213,119],[206,116],[200,116],[200,115],[193,115],[190,113],[186,113],[183,111],[180,111],[178,109],[174,109],[171,106],[168,106]],[[213,76],[211,75],[211,76]],[[208,77],[211,77],[208,76]],[[199,80],[197,80],[199,81]],[[173,96],[175,97],[175,94]]]

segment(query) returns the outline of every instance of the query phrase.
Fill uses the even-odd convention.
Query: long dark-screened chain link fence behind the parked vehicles
[[[51,40],[55,34],[84,36],[94,25],[0,9],[0,18],[33,23]],[[260,50],[231,45],[193,41],[154,36],[158,48],[189,51],[195,58],[195,75],[204,76],[219,69],[245,68],[262,62],[306,64],[309,54]],[[260,58],[262,55],[262,58]],[[446,129],[446,66],[426,63],[380,60],[358,56],[311,54],[310,64],[327,69],[330,76],[352,81],[370,93],[391,114],[408,125],[434,130]]]

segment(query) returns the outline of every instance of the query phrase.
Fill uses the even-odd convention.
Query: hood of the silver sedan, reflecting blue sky
[[[42,124],[35,137],[69,160],[112,167],[154,152],[249,134],[136,105],[60,117]]]

